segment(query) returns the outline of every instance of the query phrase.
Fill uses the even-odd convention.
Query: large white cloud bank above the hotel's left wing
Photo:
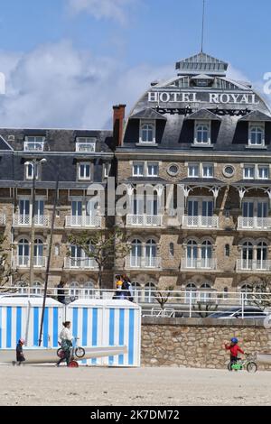
[[[0,126],[110,128],[114,104],[126,103],[129,110],[153,79],[171,76],[171,70],[124,69],[119,60],[75,50],[69,41],[25,54],[0,51],[6,77]]]

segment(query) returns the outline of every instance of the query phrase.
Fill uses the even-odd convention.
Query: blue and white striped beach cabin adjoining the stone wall
[[[125,355],[82,361],[88,364],[140,366],[141,309],[128,300],[75,300],[66,309],[80,346],[127,346]]]

